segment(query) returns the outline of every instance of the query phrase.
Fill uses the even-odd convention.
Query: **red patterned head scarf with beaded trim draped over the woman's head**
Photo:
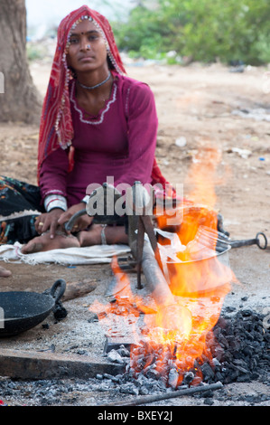
[[[115,37],[106,17],[89,9],[87,5],[71,12],[62,21],[58,29],[57,46],[51,67],[51,77],[43,102],[38,152],[38,178],[43,160],[52,151],[61,146],[63,149],[71,146],[73,126],[70,112],[69,83],[72,79],[67,64],[67,52],[70,43],[70,31],[84,19],[92,18],[105,37],[107,51],[114,71],[126,73],[120,54],[116,47]],[[166,184],[166,180],[154,160],[153,184]]]

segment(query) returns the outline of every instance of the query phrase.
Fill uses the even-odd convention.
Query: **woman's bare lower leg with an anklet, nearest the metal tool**
[[[101,233],[103,231],[103,241]],[[124,226],[102,226],[100,224],[92,224],[88,231],[80,231],[78,235],[81,247],[92,245],[100,245],[106,242],[107,245],[116,243],[128,243],[128,236]]]

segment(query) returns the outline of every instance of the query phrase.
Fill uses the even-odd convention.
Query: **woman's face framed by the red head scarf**
[[[84,20],[71,30],[67,60],[76,72],[108,70],[106,41],[95,24]]]

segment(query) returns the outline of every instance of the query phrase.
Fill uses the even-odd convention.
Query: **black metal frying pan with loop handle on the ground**
[[[56,280],[49,293],[0,292],[0,336],[17,335],[39,325],[61,299],[66,282]]]

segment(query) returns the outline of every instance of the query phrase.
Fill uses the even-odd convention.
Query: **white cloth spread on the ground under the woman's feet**
[[[71,266],[110,263],[114,256],[126,255],[130,252],[128,245],[94,245],[86,248],[47,250],[26,255],[22,254],[22,246],[18,242],[15,242],[14,245],[1,245],[0,260],[26,264],[54,263]]]

